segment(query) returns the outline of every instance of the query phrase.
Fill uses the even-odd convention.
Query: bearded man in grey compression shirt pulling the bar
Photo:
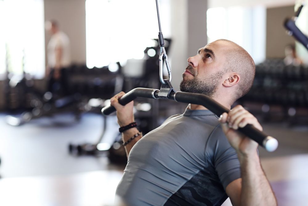
[[[188,58],[180,90],[209,95],[227,108],[252,86],[250,55],[229,40],[217,40]],[[257,143],[236,131],[257,119],[241,106],[218,119],[201,105],[189,104],[183,115],[169,117],[142,139],[135,127],[133,103],[117,110],[128,155],[116,194],[136,205],[277,205],[261,168]],[[228,122],[228,124],[226,123]]]

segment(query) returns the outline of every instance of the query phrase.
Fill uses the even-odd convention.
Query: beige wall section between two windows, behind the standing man
[[[85,8],[85,0],[44,1],[45,20],[54,19],[59,22],[60,30],[70,38],[71,58],[72,62],[76,63],[86,62]],[[45,48],[47,48],[49,40],[50,34],[45,32]]]

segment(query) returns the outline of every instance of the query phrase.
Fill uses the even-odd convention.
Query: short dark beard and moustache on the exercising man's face
[[[186,69],[193,74],[194,78],[184,80],[185,74],[183,74],[183,79],[180,83],[180,91],[204,94],[213,98],[218,88],[219,81],[222,78],[223,72],[219,71],[209,77],[199,79],[196,77],[196,72],[191,66],[188,66]]]

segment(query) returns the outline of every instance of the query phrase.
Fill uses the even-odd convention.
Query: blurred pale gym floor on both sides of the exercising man
[[[259,149],[279,205],[306,205],[308,126],[262,125],[279,141],[273,153]],[[103,118],[96,114],[84,114],[80,121],[63,114],[19,127],[7,125],[5,114],[1,114],[0,205],[112,205],[124,166],[109,164],[105,156],[74,157],[68,153],[69,143],[97,141],[102,128]],[[115,116],[108,117],[104,141],[112,141],[117,128]]]

